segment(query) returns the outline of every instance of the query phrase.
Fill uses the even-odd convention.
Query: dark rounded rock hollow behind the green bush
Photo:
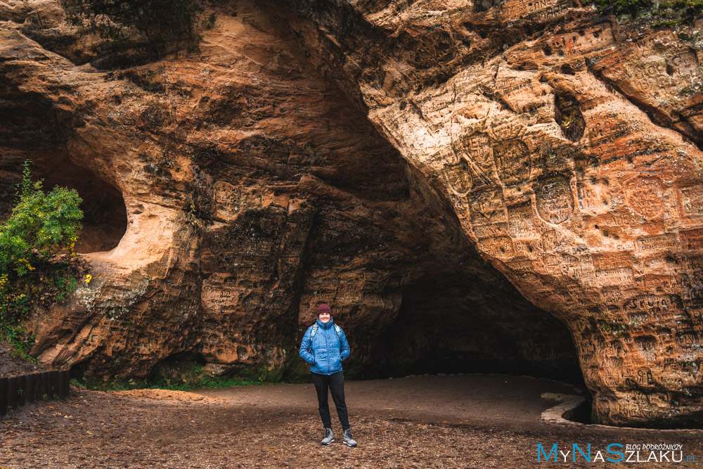
[[[44,191],[54,186],[76,189],[83,199],[83,229],[76,251],[108,251],[127,230],[122,193],[104,176],[75,165],[67,142],[77,119],[39,94],[20,91],[0,80],[0,219],[9,216],[22,164],[32,162],[32,179],[43,179]],[[83,160],[87,160],[81,155]]]

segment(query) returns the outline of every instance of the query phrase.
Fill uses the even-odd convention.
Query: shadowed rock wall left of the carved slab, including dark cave
[[[75,37],[53,1],[0,1],[0,210],[27,158],[77,188],[93,278],[34,311],[32,354],[105,379],[174,359],[295,373],[328,302],[352,374],[574,378],[567,328],[479,256],[449,196],[281,27],[289,13],[218,8],[200,53],[150,61],[138,37]]]

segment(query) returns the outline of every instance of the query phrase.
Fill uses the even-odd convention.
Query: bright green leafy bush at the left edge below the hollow
[[[22,328],[34,304],[62,300],[76,288],[70,256],[82,228],[81,202],[72,189],[44,193],[25,162],[15,206],[0,224],[0,338],[16,356],[27,358],[34,343]]]

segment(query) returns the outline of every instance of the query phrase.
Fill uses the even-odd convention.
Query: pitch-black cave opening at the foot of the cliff
[[[361,377],[505,373],[585,389],[567,327],[491,266],[482,269],[481,276],[430,271],[407,285],[397,319],[369,350],[375,358]]]

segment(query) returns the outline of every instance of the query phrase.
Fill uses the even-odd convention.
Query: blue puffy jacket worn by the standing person
[[[315,337],[311,337],[313,326],[310,326],[303,336],[300,356],[311,365],[310,371],[313,373],[331,375],[342,371],[342,361],[349,356],[347,336],[344,335],[344,330],[340,329],[340,335],[342,335],[340,340],[333,324],[334,320],[331,318],[328,323],[318,319]]]

